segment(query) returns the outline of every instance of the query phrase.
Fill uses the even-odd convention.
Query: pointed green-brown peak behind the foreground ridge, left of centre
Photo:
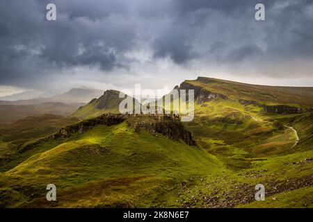
[[[117,90],[109,89],[104,92],[99,99],[93,99],[88,104],[81,106],[76,112],[72,114],[73,117],[89,118],[97,117],[104,113],[120,113],[119,105],[124,98],[119,98],[120,92]],[[140,105],[135,99],[134,104]]]

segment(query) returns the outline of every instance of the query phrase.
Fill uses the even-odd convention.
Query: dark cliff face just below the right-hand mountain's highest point
[[[220,99],[227,99],[227,96],[223,94],[218,94],[215,92],[210,92],[207,89],[204,89],[200,86],[192,85],[190,83],[187,83],[186,81],[180,84],[179,89],[194,89],[195,92],[195,101],[197,103],[205,103],[209,102],[212,99],[220,98]]]

